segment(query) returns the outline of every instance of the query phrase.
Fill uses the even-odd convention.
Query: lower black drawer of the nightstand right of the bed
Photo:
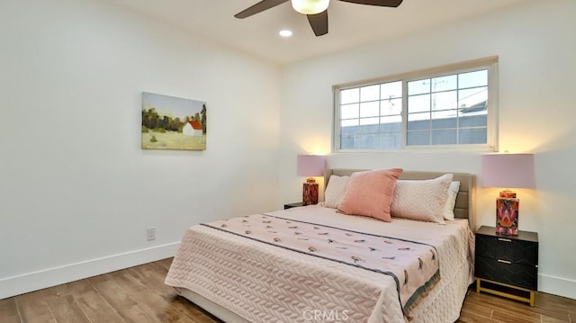
[[[537,290],[536,265],[521,265],[503,259],[476,255],[476,277]]]

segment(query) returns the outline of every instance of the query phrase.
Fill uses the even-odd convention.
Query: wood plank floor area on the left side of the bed
[[[171,262],[160,260],[1,300],[0,322],[220,322],[164,284]]]

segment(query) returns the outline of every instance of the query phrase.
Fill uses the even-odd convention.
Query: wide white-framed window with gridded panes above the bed
[[[495,148],[498,58],[337,85],[337,151]]]

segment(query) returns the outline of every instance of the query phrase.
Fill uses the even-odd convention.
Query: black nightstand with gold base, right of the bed
[[[476,292],[490,292],[534,306],[538,274],[538,234],[496,233],[494,227],[476,231]]]

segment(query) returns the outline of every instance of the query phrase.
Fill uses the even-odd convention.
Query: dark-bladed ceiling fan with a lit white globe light
[[[330,0],[262,0],[247,9],[234,14],[238,19],[244,19],[256,13],[275,7],[278,4],[284,4],[291,1],[295,11],[306,14],[312,31],[316,36],[322,36],[328,33],[328,5]],[[402,0],[339,0],[353,4],[370,4],[378,6],[397,7]]]

